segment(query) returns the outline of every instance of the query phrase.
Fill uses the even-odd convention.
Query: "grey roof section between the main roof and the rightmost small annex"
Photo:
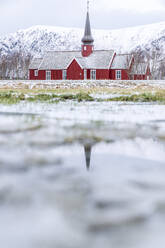
[[[129,69],[132,62],[131,54],[118,54],[115,56],[111,69]]]

